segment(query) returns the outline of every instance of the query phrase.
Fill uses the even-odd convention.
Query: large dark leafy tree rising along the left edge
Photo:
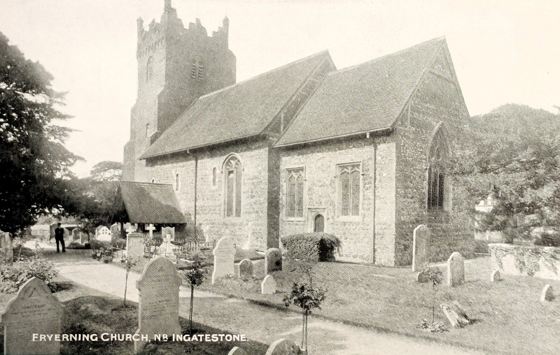
[[[68,201],[69,168],[81,159],[64,147],[70,129],[52,75],[25,59],[0,33],[0,229],[15,232]]]

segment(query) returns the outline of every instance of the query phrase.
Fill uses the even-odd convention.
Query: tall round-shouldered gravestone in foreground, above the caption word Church
[[[139,291],[138,330],[135,334],[146,334],[154,340],[154,334],[181,334],[179,324],[179,287],[183,279],[174,264],[158,256],[144,267],[136,288]],[[144,340],[134,341],[134,352],[146,345]]]

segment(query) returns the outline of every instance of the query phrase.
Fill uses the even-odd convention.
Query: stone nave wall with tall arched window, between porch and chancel
[[[267,198],[269,146],[266,140],[243,142],[193,152],[197,162],[197,226],[205,237],[218,240],[229,236],[239,247],[266,249],[274,230],[269,232],[268,219],[277,221],[274,211],[269,215]],[[241,189],[241,217],[225,217],[223,164],[230,154],[236,154],[243,164]],[[213,170],[216,168],[216,185]],[[149,179],[161,184],[175,185],[179,174],[179,189],[175,193],[190,222],[195,207],[195,157],[187,153],[148,159]],[[176,188],[174,186],[174,188]],[[249,235],[251,240],[249,241]],[[276,245],[277,245],[276,237]]]

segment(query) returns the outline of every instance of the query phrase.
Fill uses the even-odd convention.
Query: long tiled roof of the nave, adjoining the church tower
[[[200,97],[140,159],[257,136],[325,60],[319,52]]]

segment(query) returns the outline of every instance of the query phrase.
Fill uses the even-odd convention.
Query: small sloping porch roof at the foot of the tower
[[[120,191],[131,223],[186,223],[172,185],[120,182]]]

